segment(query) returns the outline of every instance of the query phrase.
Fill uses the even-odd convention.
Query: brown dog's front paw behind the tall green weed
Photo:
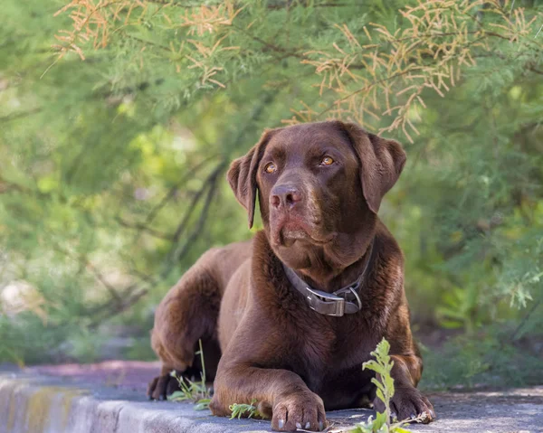
[[[378,412],[385,411],[383,402],[376,398],[374,400],[374,409]],[[424,397],[421,391],[416,388],[396,388],[394,397],[390,402],[392,417],[400,421],[405,419],[416,419],[425,414],[420,422],[427,424],[432,422],[435,417],[432,403]]]

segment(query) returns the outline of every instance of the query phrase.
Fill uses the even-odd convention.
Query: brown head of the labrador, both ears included
[[[355,124],[308,123],[265,131],[233,161],[228,182],[250,228],[258,192],[271,247],[292,268],[303,268],[308,254],[332,246],[359,258],[357,235],[374,230],[381,199],[404,164],[393,140]]]

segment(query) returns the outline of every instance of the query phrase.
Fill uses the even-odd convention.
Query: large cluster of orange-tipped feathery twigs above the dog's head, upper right
[[[481,24],[473,28],[474,8],[484,8],[501,24]],[[415,6],[401,9],[410,26],[391,33],[386,26],[365,27],[366,41],[358,39],[348,26],[338,25],[344,42],[334,42],[325,51],[306,52],[321,80],[315,84],[320,95],[332,95],[331,102],[316,109],[305,105],[294,111],[285,123],[326,118],[347,118],[369,126],[386,126],[378,131],[399,129],[413,142],[415,126],[425,108],[423,92],[432,89],[445,94],[460,80],[462,71],[475,65],[475,52],[490,52],[491,39],[510,43],[533,44],[526,38],[533,34],[537,16],[527,19],[523,8],[509,17],[507,5],[497,0],[419,0]],[[531,68],[529,67],[531,66]],[[527,65],[529,70],[538,70]]]

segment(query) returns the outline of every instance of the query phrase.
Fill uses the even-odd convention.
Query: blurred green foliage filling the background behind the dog
[[[405,145],[380,216],[424,387],[540,383],[542,25],[520,0],[5,0],[0,362],[155,359],[168,288],[252,236],[229,162],[342,118]]]

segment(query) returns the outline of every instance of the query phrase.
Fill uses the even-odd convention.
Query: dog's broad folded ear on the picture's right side
[[[360,160],[362,191],[371,212],[377,213],[383,196],[394,186],[407,156],[397,141],[368,133],[354,123],[339,122]]]

